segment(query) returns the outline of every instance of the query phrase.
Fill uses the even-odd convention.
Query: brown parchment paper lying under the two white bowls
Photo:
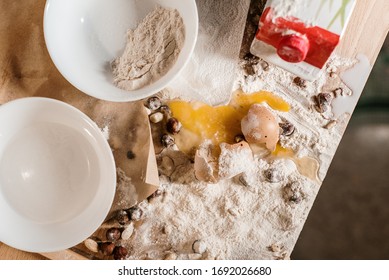
[[[159,186],[143,101],[98,100],[67,82],[51,61],[44,42],[45,3],[44,0],[0,0],[0,104],[28,96],[54,98],[80,109],[100,128],[108,126],[116,166],[125,172],[136,189],[136,199],[128,199],[132,203],[142,201]],[[129,151],[133,154],[131,159],[127,157]],[[117,208],[115,202],[111,214]]]

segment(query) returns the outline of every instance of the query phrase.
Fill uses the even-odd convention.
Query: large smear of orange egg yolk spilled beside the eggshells
[[[183,133],[177,135],[178,147],[185,152],[194,148],[193,146],[197,148],[205,139],[211,140],[216,146],[223,142],[235,143],[235,136],[242,134],[240,127],[242,118],[247,115],[251,105],[262,102],[266,102],[277,111],[290,110],[287,102],[268,91],[252,94],[237,91],[228,105],[215,107],[200,102],[170,101],[173,116],[184,128],[181,131]],[[192,139],[187,141],[188,138]]]

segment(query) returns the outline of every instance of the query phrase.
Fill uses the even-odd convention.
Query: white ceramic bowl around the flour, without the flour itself
[[[110,62],[122,54],[126,31],[157,4],[180,12],[184,46],[161,79],[138,90],[121,90],[112,84]],[[197,29],[195,0],[47,0],[44,15],[46,45],[61,74],[86,94],[116,102],[139,100],[166,87],[189,60]]]

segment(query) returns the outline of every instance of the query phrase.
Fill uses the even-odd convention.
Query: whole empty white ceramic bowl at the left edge
[[[104,221],[115,187],[111,149],[84,113],[38,97],[0,106],[0,241],[70,248]]]

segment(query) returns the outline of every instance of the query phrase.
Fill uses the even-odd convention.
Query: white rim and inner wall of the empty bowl
[[[0,118],[9,114],[8,112],[10,110],[12,111],[15,107],[19,106],[40,109],[45,106],[51,108],[61,107],[61,109],[66,110],[66,114],[83,122],[85,126],[83,126],[82,129],[86,129],[88,134],[96,141],[93,145],[94,148],[100,148],[99,151],[96,151],[96,155],[99,159],[99,172],[104,172],[104,175],[100,178],[97,194],[93,201],[79,215],[64,224],[42,225],[29,221],[27,218],[18,215],[10,208],[8,203],[1,203],[0,220],[2,221],[2,226],[0,230],[0,241],[20,250],[37,253],[54,252],[73,247],[92,235],[104,222],[111,209],[116,191],[116,166],[111,148],[95,122],[86,114],[65,102],[43,97],[20,98],[1,105]],[[18,117],[23,118],[23,112],[21,112]],[[50,120],[48,120],[48,122],[50,122]],[[3,200],[3,202],[6,201],[3,197],[1,186],[0,199]],[[4,211],[5,208],[7,208],[6,211]],[[15,215],[13,217],[9,217],[9,215],[3,217],[3,215],[5,215],[4,212],[7,212],[8,214],[15,213]],[[13,218],[15,220],[13,220]],[[85,220],[85,218],[87,218],[87,220]],[[18,223],[17,226],[14,225],[16,223]],[[72,228],[75,224],[80,228]],[[18,232],[11,232],[14,228],[18,228]],[[68,234],[66,241],[58,240],[58,243],[55,245],[53,242],[50,244],[45,243],[44,234],[55,234],[55,232],[59,232],[60,230],[61,232],[66,231],[66,234]],[[57,242],[57,240],[55,242]]]

